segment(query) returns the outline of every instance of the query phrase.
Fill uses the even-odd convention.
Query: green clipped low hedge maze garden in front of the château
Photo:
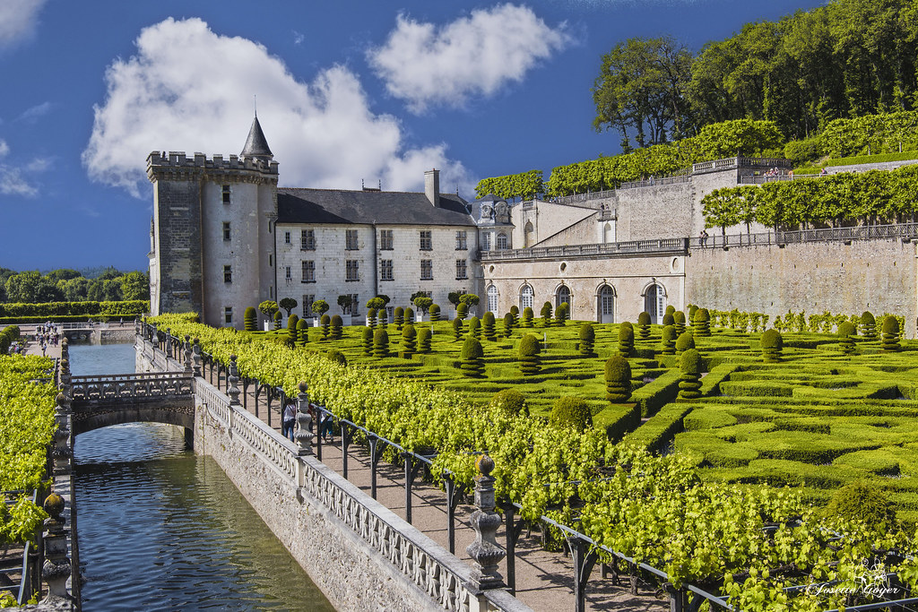
[[[593,323],[588,356],[579,346],[582,322],[533,324],[481,342],[484,371],[474,378],[463,375],[460,354],[469,326],[457,340],[451,321],[419,323],[418,330],[432,332],[431,351],[410,359],[398,356],[403,339],[391,326],[388,357],[366,354],[361,327],[322,341],[318,329],[309,329],[306,350],[334,348],[349,363],[422,378],[482,405],[513,388],[535,417],[547,418],[559,397],[579,397],[593,426],[611,439],[689,452],[712,481],[799,485],[822,504],[838,486],[870,480],[887,490],[901,518],[918,522],[918,342],[903,340],[900,351],[884,351],[880,334],[856,335],[850,338],[856,353],[848,356],[844,336],[785,332],[781,361],[766,362],[761,333],[711,326],[710,337],[694,339],[700,398],[686,401],[677,399],[680,356],[663,353],[663,327],[653,325],[646,339],[633,339],[629,401],[610,404],[605,363],[619,354],[620,326]],[[525,333],[543,345],[540,372],[531,376],[523,376],[519,362]]]

